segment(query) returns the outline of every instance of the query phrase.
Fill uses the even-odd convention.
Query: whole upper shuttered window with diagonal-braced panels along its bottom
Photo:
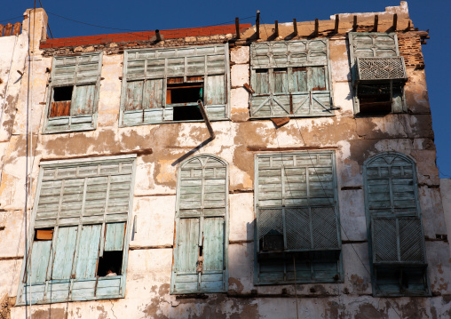
[[[328,39],[253,43],[250,117],[334,116]]]

